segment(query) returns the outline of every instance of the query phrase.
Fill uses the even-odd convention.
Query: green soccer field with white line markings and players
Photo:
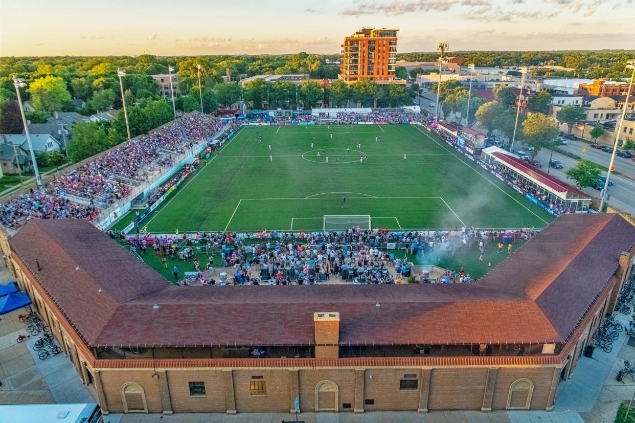
[[[553,218],[419,126],[250,126],[144,224],[321,231],[324,215],[370,215],[373,228],[392,230],[543,227]]]

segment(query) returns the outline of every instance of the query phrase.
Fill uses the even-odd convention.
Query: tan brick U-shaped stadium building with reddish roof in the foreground
[[[166,414],[551,410],[634,245],[564,215],[472,285],[173,286],[86,220],[0,239],[104,412]]]

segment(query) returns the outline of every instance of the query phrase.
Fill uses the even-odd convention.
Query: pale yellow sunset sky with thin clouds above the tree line
[[[635,49],[633,17],[634,0],[1,0],[0,56],[339,53],[363,26],[399,29],[401,53]]]

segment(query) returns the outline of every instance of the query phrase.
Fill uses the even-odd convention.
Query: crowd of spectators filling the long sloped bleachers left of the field
[[[99,213],[96,206],[125,198],[130,194],[130,184],[147,179],[147,164],[169,166],[173,155],[185,152],[194,142],[207,141],[224,125],[210,115],[184,116],[57,175],[43,190],[31,190],[0,203],[0,223],[15,228],[30,218],[94,218]],[[65,199],[66,194],[89,199],[90,204],[72,203]]]

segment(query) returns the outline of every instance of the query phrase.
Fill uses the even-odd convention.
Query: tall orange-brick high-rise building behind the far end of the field
[[[395,76],[398,29],[362,28],[344,38],[340,79],[355,83],[368,79],[378,84],[403,83]]]

